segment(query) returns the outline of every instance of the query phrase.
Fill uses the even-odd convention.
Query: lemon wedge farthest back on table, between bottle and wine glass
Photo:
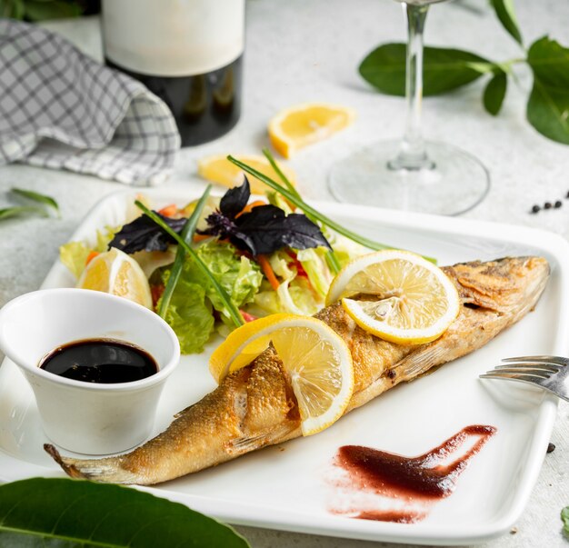
[[[275,150],[290,158],[298,149],[317,143],[350,125],[351,108],[324,103],[294,105],[269,122],[269,138]]]

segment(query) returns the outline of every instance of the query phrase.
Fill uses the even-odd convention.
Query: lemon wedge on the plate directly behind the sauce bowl
[[[152,310],[152,296],[145,273],[135,259],[111,248],[98,254],[85,267],[77,287],[115,294]]]

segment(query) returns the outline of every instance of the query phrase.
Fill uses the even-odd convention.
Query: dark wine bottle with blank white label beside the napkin
[[[239,120],[245,0],[103,0],[105,63],[140,80],[172,111],[182,145]]]

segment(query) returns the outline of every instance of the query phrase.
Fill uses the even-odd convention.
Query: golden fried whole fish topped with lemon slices
[[[443,268],[461,298],[447,331],[428,344],[394,344],[366,333],[341,304],[315,317],[339,334],[354,360],[354,394],[345,413],[395,384],[480,348],[534,308],[549,265],[541,257],[455,264]],[[154,439],[131,453],[82,460],[45,444],[65,472],[98,482],[161,483],[283,443],[301,435],[300,414],[283,364],[270,346],[251,364],[228,375],[201,401],[175,415]]]

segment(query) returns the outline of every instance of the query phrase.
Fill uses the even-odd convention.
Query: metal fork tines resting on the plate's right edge
[[[534,384],[569,402],[569,358],[560,356],[520,356],[505,358],[504,365],[481,374],[482,379],[506,379]]]

